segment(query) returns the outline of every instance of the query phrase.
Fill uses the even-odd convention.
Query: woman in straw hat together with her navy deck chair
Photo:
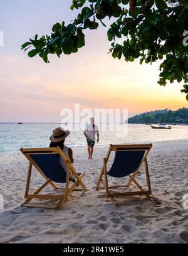
[[[23,149],[21,147],[20,151],[29,161],[28,176],[24,194],[25,201],[22,206],[54,208],[57,210],[60,209],[61,206],[65,205],[73,191],[88,190],[82,181],[83,176],[85,176],[85,171],[82,173],[76,173],[76,170],[72,165],[74,161],[73,152],[69,147],[64,145],[65,138],[68,134],[70,134],[69,131],[57,128],[53,131],[53,135],[50,137],[50,147],[28,149]],[[34,193],[29,193],[33,167],[35,168],[34,171],[38,171],[46,181],[36,191],[34,191]],[[71,186],[70,179],[73,181]],[[60,193],[55,193],[55,195],[52,195],[51,193],[46,194],[45,192],[41,194],[40,192],[46,188],[48,184],[50,184],[55,190],[58,189],[57,184],[65,184],[65,188],[63,188]],[[81,188],[77,188],[78,185],[80,185]],[[32,204],[30,201],[33,199],[43,200],[44,203]],[[48,200],[55,201],[55,203],[48,205]]]

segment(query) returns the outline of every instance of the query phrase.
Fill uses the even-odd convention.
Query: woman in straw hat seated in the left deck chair
[[[63,128],[58,127],[53,131],[53,134],[50,136],[50,147],[60,147],[65,156],[70,159],[71,164],[74,163],[73,151],[70,147],[65,146],[65,139],[70,134],[70,131],[65,131]],[[61,166],[66,170],[66,163],[61,156],[58,156]],[[75,182],[73,174],[70,173],[71,181]]]

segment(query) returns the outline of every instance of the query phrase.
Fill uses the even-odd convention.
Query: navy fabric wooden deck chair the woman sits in
[[[26,189],[24,198],[26,200],[21,206],[28,207],[42,207],[42,208],[55,208],[60,209],[62,205],[66,203],[68,200],[68,196],[73,190],[81,190],[78,188],[80,184],[82,189],[87,191],[85,184],[81,179],[85,175],[85,171],[83,173],[76,173],[75,168],[70,163],[70,160],[65,156],[63,151],[61,151],[60,147],[48,147],[48,148],[36,148],[36,149],[23,149],[20,151],[24,154],[24,156],[29,160],[29,168],[28,168],[28,177],[26,181]],[[60,164],[60,161],[57,157],[60,155],[64,161],[66,161],[66,171]],[[32,166],[36,168],[37,171],[46,179],[46,182],[37,189],[33,194],[29,193],[29,184],[31,180],[31,170]],[[75,183],[70,186],[70,173],[75,176]],[[72,181],[71,181],[72,182]],[[46,187],[47,184],[50,184],[53,189],[58,189],[55,183],[65,183],[65,193],[63,195],[39,195],[39,192]],[[44,200],[55,200],[58,201],[56,205],[31,205],[29,203],[33,198],[44,199]]]

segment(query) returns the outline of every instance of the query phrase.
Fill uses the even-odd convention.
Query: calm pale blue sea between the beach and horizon
[[[60,124],[0,124],[0,152],[18,152],[20,147],[48,147],[51,132],[59,126]],[[170,130],[154,130],[149,125],[129,124],[127,134],[122,137],[117,137],[115,131],[101,131],[100,142],[96,146],[173,139],[188,139],[188,125],[174,125]],[[86,146],[83,132],[71,132],[66,144],[71,147]]]

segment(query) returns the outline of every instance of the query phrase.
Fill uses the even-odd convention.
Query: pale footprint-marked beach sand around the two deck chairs
[[[75,150],[76,171],[86,171],[83,181],[89,190],[73,192],[61,210],[19,206],[23,202],[28,161],[19,153],[1,154],[0,194],[4,195],[4,210],[0,210],[0,242],[187,243],[188,210],[182,207],[182,196],[188,193],[188,141],[153,143],[150,179],[160,205],[144,200],[114,206],[103,191],[95,191],[106,152],[106,147],[96,149],[93,161],[89,161],[86,149]],[[138,176],[140,181],[143,178],[144,175]],[[31,187],[35,189],[42,181],[34,171]]]

